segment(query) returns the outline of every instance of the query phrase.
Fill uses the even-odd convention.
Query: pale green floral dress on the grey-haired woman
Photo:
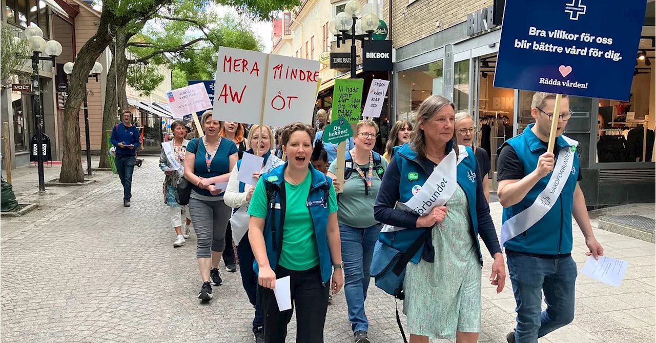
[[[403,313],[409,333],[453,339],[456,331],[481,331],[481,265],[462,188],[447,208],[444,221],[432,230],[434,262],[420,260],[406,268]]]

